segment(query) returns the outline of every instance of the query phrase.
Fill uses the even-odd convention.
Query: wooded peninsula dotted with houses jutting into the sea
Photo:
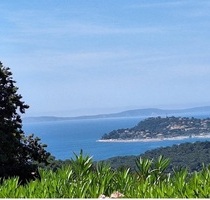
[[[210,137],[210,118],[150,117],[136,126],[113,130],[102,136],[99,142],[129,142]]]

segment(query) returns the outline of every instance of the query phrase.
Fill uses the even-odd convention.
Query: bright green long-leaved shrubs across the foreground
[[[114,171],[104,163],[93,164],[82,152],[71,165],[52,171],[40,169],[41,180],[25,185],[18,178],[4,180],[0,198],[98,198],[119,191],[126,198],[209,198],[210,167],[188,173],[180,168],[166,173],[169,160],[138,158],[137,170]]]

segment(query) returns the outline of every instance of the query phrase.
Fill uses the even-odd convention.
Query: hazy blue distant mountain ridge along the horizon
[[[77,119],[100,119],[100,118],[119,118],[119,117],[156,117],[156,116],[185,116],[195,114],[210,115],[210,106],[194,107],[187,109],[134,109],[126,110],[111,114],[87,115],[78,117],[55,117],[55,116],[40,116],[40,117],[25,117],[24,122],[42,122],[42,121],[62,121],[62,120],[77,120]]]

